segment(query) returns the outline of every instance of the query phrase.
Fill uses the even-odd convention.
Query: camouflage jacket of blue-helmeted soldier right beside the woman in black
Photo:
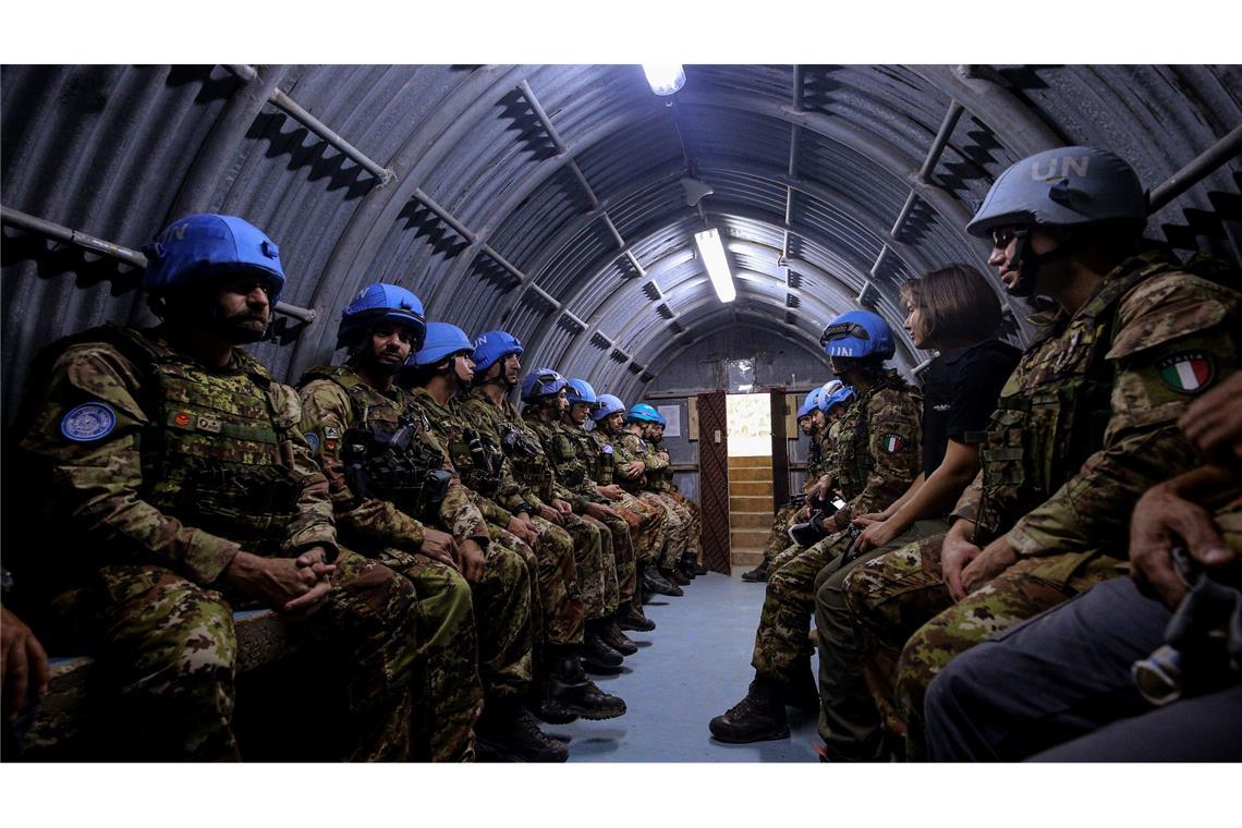
[[[840,432],[828,473],[848,502],[842,520],[881,511],[919,475],[922,408],[919,392],[889,370],[835,423]]]

